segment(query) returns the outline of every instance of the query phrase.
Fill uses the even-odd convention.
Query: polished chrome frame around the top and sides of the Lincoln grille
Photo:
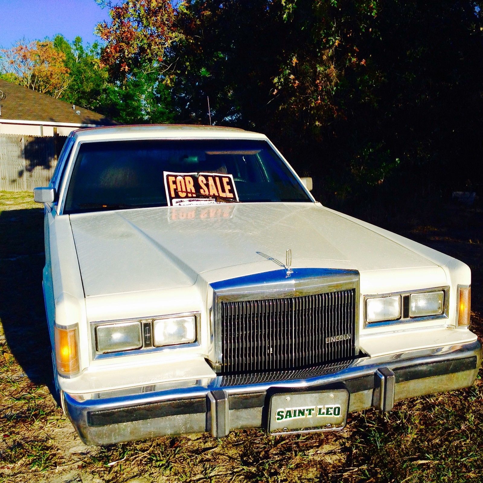
[[[300,270],[300,269],[298,269]],[[219,371],[223,363],[222,337],[221,337],[221,302],[241,301],[241,300],[264,300],[267,298],[292,298],[304,295],[321,294],[336,292],[339,290],[355,289],[355,327],[354,345],[355,354],[359,353],[359,272],[357,270],[345,269],[305,269],[314,270],[314,273],[327,271],[326,275],[318,276],[297,276],[297,269],[290,277],[286,277],[284,269],[276,270],[280,272],[281,279],[270,284],[256,283],[233,287],[215,288],[217,283],[213,283],[213,305],[210,309],[210,322],[213,320],[211,340],[213,341],[214,357],[210,361],[213,370]],[[273,272],[265,272],[271,274]],[[264,273],[255,274],[256,276]],[[250,277],[250,275],[248,276]],[[236,279],[232,279],[235,281]],[[223,281],[229,283],[230,280]],[[210,324],[211,325],[211,324]]]

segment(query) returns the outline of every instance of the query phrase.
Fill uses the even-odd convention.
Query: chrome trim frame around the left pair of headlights
[[[163,345],[161,347],[155,347],[154,345],[146,347],[144,345],[144,334],[141,334],[142,338],[142,347],[140,349],[128,349],[124,351],[118,352],[99,352],[97,351],[97,340],[96,340],[96,327],[103,326],[103,325],[112,325],[112,324],[125,324],[129,322],[139,322],[142,328],[142,323],[147,322],[151,323],[151,327],[153,327],[153,321],[159,319],[171,319],[175,317],[187,317],[193,315],[196,319],[195,328],[196,328],[196,340],[194,342],[186,343],[186,344],[175,344],[175,345]],[[166,350],[175,350],[175,349],[187,349],[190,347],[200,347],[199,344],[199,334],[201,333],[201,313],[200,312],[183,312],[183,313],[174,313],[174,314],[163,314],[163,315],[154,315],[150,317],[142,317],[142,318],[130,318],[130,319],[117,319],[117,320],[102,320],[102,321],[92,321],[89,323],[89,333],[90,333],[90,346],[91,346],[91,360],[99,360],[99,359],[107,359],[113,357],[122,357],[126,355],[137,355],[137,354],[151,354],[153,352],[161,352]],[[151,338],[153,338],[153,329],[151,328]]]

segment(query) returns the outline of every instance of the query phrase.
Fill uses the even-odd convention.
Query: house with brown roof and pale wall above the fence
[[[67,136],[110,124],[101,114],[0,79],[0,134]]]

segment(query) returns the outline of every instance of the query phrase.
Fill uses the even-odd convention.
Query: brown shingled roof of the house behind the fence
[[[0,91],[5,95],[5,99],[0,100],[0,122],[9,119],[96,126],[116,124],[101,114],[80,106],[75,106],[74,110],[68,102],[1,79]]]

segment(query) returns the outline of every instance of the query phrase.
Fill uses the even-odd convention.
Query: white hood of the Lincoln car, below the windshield
[[[86,297],[176,288],[293,267],[435,267],[313,203],[240,203],[70,215]],[[271,258],[271,259],[270,259]]]

